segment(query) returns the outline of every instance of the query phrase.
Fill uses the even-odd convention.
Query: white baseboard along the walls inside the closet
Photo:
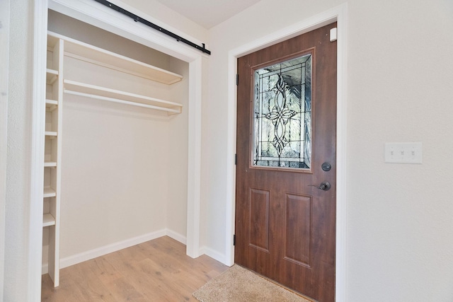
[[[76,255],[72,255],[69,257],[64,257],[59,261],[59,267],[70,267],[71,265],[76,265],[77,263],[84,262],[87,260],[91,260],[96,257],[101,257],[106,255],[110,252],[116,252],[117,250],[122,250],[123,248],[130,248],[133,245],[137,245],[140,243],[147,242],[149,240],[153,240],[162,236],[168,236],[173,238],[174,240],[183,243],[184,245],[187,243],[187,238],[180,233],[176,233],[174,231],[168,230],[167,228],[155,231],[152,233],[148,233],[142,236],[137,236],[134,238],[129,238],[117,243],[111,243],[109,245],[105,245],[101,248],[95,248],[93,250],[87,250],[86,252],[81,252]],[[42,265],[42,274],[47,274],[48,272],[48,264],[45,263]]]

